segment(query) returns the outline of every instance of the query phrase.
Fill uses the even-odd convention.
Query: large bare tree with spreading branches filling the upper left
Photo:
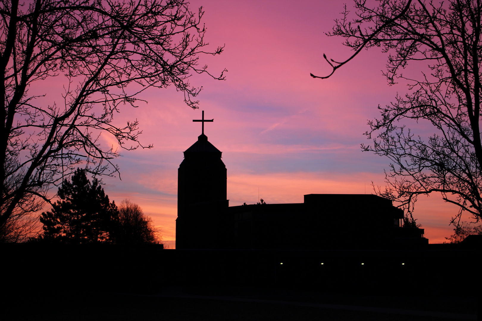
[[[94,177],[119,168],[113,148],[103,148],[101,133],[121,148],[139,143],[137,120],[113,123],[121,105],[136,107],[148,88],[173,85],[192,100],[193,73],[207,43],[200,25],[202,7],[193,13],[185,0],[0,0],[0,230],[7,222],[39,210],[47,192],[82,166]],[[54,78],[56,77],[56,78]],[[65,81],[63,101],[36,85]],[[32,92],[32,93],[31,93]],[[80,165],[81,164],[81,165]],[[40,207],[39,207],[40,206]]]

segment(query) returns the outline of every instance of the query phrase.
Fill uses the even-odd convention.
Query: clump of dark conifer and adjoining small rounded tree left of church
[[[97,181],[78,168],[59,187],[60,200],[40,215],[42,232],[30,242],[64,244],[159,244],[161,233],[139,205],[118,207]]]

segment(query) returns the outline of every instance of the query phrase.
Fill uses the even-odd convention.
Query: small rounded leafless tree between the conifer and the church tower
[[[161,231],[141,207],[125,199],[120,202],[118,228],[114,235],[117,244],[146,244],[161,242]]]

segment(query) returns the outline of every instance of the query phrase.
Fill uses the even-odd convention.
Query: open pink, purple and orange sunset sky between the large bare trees
[[[293,203],[303,202],[303,194],[372,193],[372,181],[383,185],[388,159],[362,153],[360,144],[368,142],[362,133],[367,120],[378,116],[376,106],[406,90],[386,84],[386,55],[362,52],[329,79],[309,77],[329,73],[323,53],[335,60],[351,55],[342,39],[324,35],[340,17],[341,1],[190,2],[193,11],[201,5],[205,10],[205,40],[213,50],[226,45],[220,56],[202,57],[201,64],[214,74],[227,68],[227,79],[192,77],[193,85],[203,86],[199,110],[167,89],[146,91],[140,98],[147,105],[121,111],[116,120],[137,118],[141,141],[154,148],[122,153],[122,180],[107,179],[104,187],[111,200],[139,204],[174,248],[177,168],[182,152],[201,134],[201,125],[192,122],[201,110],[214,118],[205,133],[223,152],[230,205],[257,202],[258,188],[267,203]],[[448,224],[455,211],[439,195],[419,202],[415,217],[430,243],[452,234]]]

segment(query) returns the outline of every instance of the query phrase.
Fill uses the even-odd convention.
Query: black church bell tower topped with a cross
[[[202,133],[184,152],[177,172],[176,249],[222,247],[227,198],[227,169],[221,154]]]

